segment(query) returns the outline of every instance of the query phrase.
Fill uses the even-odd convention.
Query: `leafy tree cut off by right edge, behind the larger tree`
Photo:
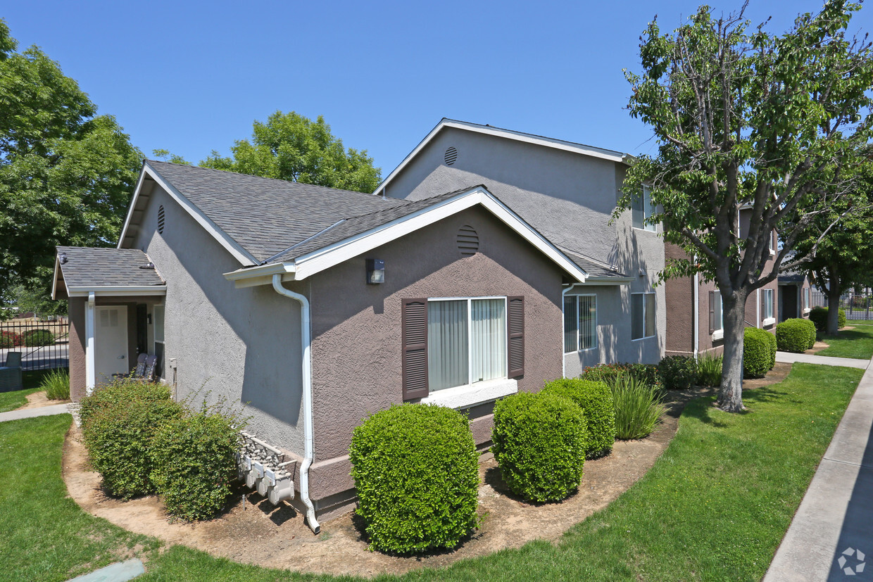
[[[873,283],[873,153],[851,176],[851,195],[815,216],[798,236],[795,250],[804,257],[800,269],[813,274],[828,295],[828,305],[840,305],[842,294]],[[838,224],[836,224],[838,223]],[[828,334],[838,333],[838,312],[828,311]]]

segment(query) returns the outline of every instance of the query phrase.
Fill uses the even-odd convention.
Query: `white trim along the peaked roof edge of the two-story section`
[[[587,146],[585,144],[576,143],[574,141],[556,140],[554,138],[545,137],[543,135],[526,134],[524,132],[517,132],[512,129],[503,129],[501,127],[492,127],[489,125],[483,126],[478,123],[450,120],[443,117],[443,119],[436,124],[436,127],[430,130],[430,134],[425,135],[424,139],[418,143],[415,149],[413,149],[405,158],[403,158],[403,161],[400,162],[400,165],[394,168],[394,170],[392,170],[391,173],[388,174],[388,176],[384,180],[382,180],[382,183],[380,183],[379,186],[376,187],[374,193],[379,193],[384,188],[386,188],[388,186],[388,182],[394,180],[395,176],[399,175],[402,172],[403,168],[406,168],[406,166],[409,165],[409,162],[411,162],[416,157],[416,155],[430,143],[430,141],[436,138],[436,134],[439,134],[441,131],[443,131],[443,129],[447,127],[463,129],[464,131],[474,132],[477,134],[494,135],[508,140],[524,141],[526,143],[533,143],[544,147],[553,147],[555,149],[560,149],[567,152],[574,152],[575,154],[590,155],[592,157],[600,158],[602,160],[621,162],[624,164],[629,164],[630,161],[634,159],[634,156],[630,154],[616,152],[615,150],[606,149],[603,147]]]

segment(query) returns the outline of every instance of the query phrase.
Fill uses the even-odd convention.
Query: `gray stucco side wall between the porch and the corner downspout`
[[[162,188],[151,189],[142,216],[134,247],[167,281],[164,375],[172,382],[175,359],[178,398],[200,391],[196,401],[243,406],[260,438],[302,454],[299,305],[270,286],[236,289],[223,273],[241,265]]]

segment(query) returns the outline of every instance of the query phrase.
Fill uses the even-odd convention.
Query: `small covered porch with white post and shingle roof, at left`
[[[167,377],[166,293],[166,282],[141,250],[58,247],[52,298],[68,301],[73,401],[130,373],[140,354],[155,355],[156,377]]]

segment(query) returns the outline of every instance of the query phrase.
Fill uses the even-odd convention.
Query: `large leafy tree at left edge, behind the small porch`
[[[142,156],[36,46],[0,20],[0,301],[47,298],[55,246],[118,237]],[[63,309],[63,306],[58,306]]]

